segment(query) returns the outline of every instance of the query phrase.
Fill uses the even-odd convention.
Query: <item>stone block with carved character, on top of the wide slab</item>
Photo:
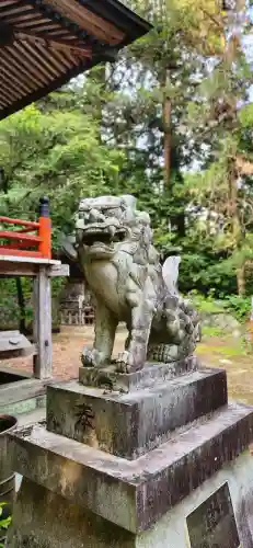
[[[175,429],[227,404],[225,370],[202,369],[129,393],[105,393],[78,381],[47,388],[47,429],[124,457],[138,458]]]

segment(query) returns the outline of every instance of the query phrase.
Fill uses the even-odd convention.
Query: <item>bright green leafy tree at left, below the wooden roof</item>
[[[117,185],[124,155],[100,142],[99,126],[80,111],[39,111],[35,105],[0,126],[0,164],[5,191],[0,214],[35,218],[38,198],[50,198],[54,246],[72,228],[82,196]]]

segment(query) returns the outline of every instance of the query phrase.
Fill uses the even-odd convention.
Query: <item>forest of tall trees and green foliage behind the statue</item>
[[[0,124],[0,215],[35,219],[54,251],[80,197],[134,194],[180,289],[244,321],[253,295],[253,41],[245,0],[127,0],[142,39]],[[55,292],[58,292],[56,286]],[[30,286],[0,281],[0,306]],[[22,305],[23,302],[23,305]]]

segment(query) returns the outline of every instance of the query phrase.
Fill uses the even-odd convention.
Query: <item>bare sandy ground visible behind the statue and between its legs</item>
[[[125,332],[116,336],[115,354],[124,347]],[[61,379],[77,378],[80,354],[84,344],[93,341],[93,328],[62,328],[54,335],[54,376]],[[229,397],[253,404],[253,351],[249,353],[241,340],[208,338],[199,344],[197,354],[204,366],[225,368],[228,373]],[[32,372],[32,359],[3,362],[14,368]]]

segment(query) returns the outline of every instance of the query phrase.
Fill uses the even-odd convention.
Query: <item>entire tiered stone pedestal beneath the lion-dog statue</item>
[[[223,370],[80,380],[49,386],[46,423],[10,437],[24,480],[9,548],[252,548],[253,409],[228,404]]]

